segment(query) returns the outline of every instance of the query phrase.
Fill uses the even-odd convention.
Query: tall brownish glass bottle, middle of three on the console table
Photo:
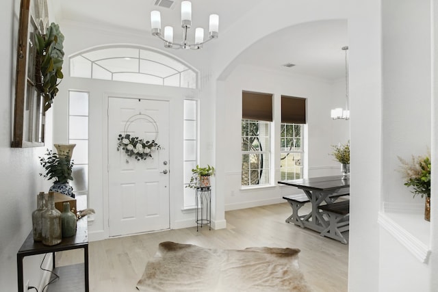
[[[49,191],[47,209],[42,213],[42,243],[57,245],[61,241],[61,212],[55,208],[55,193]]]

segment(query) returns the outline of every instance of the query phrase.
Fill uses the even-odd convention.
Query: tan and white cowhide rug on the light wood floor
[[[140,291],[311,291],[297,248],[213,250],[159,243],[137,283]]]

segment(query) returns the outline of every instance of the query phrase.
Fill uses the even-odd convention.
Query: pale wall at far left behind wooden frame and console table
[[[20,1],[2,2],[0,12],[1,46],[0,68],[0,283],[2,291],[16,291],[16,252],[32,228],[31,213],[36,209],[36,195],[48,189],[49,183],[39,176],[42,172],[38,156],[44,148],[10,148],[12,140],[12,112],[15,98],[16,47]],[[49,111],[48,115],[51,113]],[[50,120],[50,118],[49,118]],[[47,125],[51,131],[51,125]],[[47,137],[51,140],[51,135]],[[38,287],[42,256],[25,258],[25,281]]]

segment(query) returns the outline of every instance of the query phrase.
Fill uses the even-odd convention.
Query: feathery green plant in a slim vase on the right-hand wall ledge
[[[406,180],[404,185],[411,187],[413,196],[426,196],[424,219],[430,221],[430,154],[425,156],[412,155],[411,161],[397,157],[400,163],[400,172]]]

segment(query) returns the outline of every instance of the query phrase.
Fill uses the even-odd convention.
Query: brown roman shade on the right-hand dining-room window
[[[281,122],[306,123],[306,98],[281,96]]]

